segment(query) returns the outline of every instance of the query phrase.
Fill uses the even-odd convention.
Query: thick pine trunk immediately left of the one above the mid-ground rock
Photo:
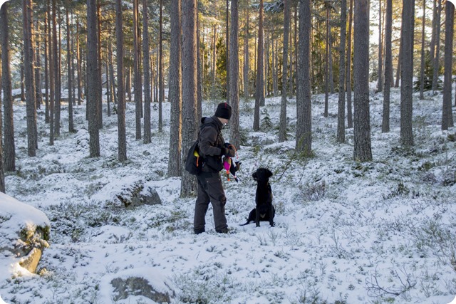
[[[98,68],[97,5],[96,0],[87,0],[87,108],[90,157],[100,157],[100,135],[97,123]]]

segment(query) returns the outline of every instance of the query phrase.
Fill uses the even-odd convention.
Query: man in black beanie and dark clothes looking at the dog
[[[205,229],[204,220],[209,202],[214,209],[215,231],[227,234],[227,218],[225,216],[225,196],[219,171],[223,169],[222,156],[234,157],[235,151],[225,144],[222,128],[231,118],[232,109],[227,103],[217,106],[214,116],[202,117],[199,127],[199,155],[203,159],[202,171],[197,175],[198,197],[195,204],[193,229],[195,234],[202,234]]]

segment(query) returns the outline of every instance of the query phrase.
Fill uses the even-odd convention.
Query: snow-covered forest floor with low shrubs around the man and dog
[[[180,179],[167,177],[170,104],[152,144],[135,140],[134,104],[127,105],[128,161],[117,161],[117,117],[103,117],[101,157],[88,157],[86,106],[76,106],[76,134],[48,145],[38,110],[38,150],[26,156],[26,107],[14,106],[17,170],[6,193],[51,221],[41,276],[0,270],[6,303],[114,303],[111,278],[166,281],[173,303],[450,303],[456,295],[456,128],[440,130],[442,95],[415,96],[415,147],[399,144],[400,92],[392,93],[391,132],[381,132],[383,95],[371,93],[372,162],[353,161],[353,129],[336,142],[337,95],[323,117],[313,97],[314,157],[294,153],[296,100],[289,100],[289,141],[279,143],[280,98],[261,108],[252,132],[254,100],[241,101],[244,145],[240,182],[227,181],[230,234],[192,229],[195,198],[180,198]],[[212,115],[217,102],[205,102]],[[454,109],[454,108],[453,108]],[[455,112],[453,110],[453,112]],[[455,114],[454,114],[455,115]],[[455,115],[456,117],[456,115]],[[224,131],[225,140],[229,132]],[[254,207],[252,172],[268,167],[276,226],[243,224]],[[115,196],[135,183],[154,187],[162,205],[125,209]],[[0,202],[1,203],[1,202]],[[0,254],[0,265],[16,259]],[[1,303],[1,300],[0,300]],[[151,303],[131,296],[115,303]]]

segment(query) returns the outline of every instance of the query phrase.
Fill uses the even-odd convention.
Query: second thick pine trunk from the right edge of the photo
[[[400,142],[413,146],[413,36],[415,0],[403,0],[402,28],[403,54],[400,70]]]

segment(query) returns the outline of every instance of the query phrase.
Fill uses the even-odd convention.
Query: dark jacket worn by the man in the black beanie
[[[223,169],[222,151],[224,140],[222,137],[223,124],[216,116],[202,117],[199,126],[198,142],[199,154],[203,157],[204,172],[219,172]]]

